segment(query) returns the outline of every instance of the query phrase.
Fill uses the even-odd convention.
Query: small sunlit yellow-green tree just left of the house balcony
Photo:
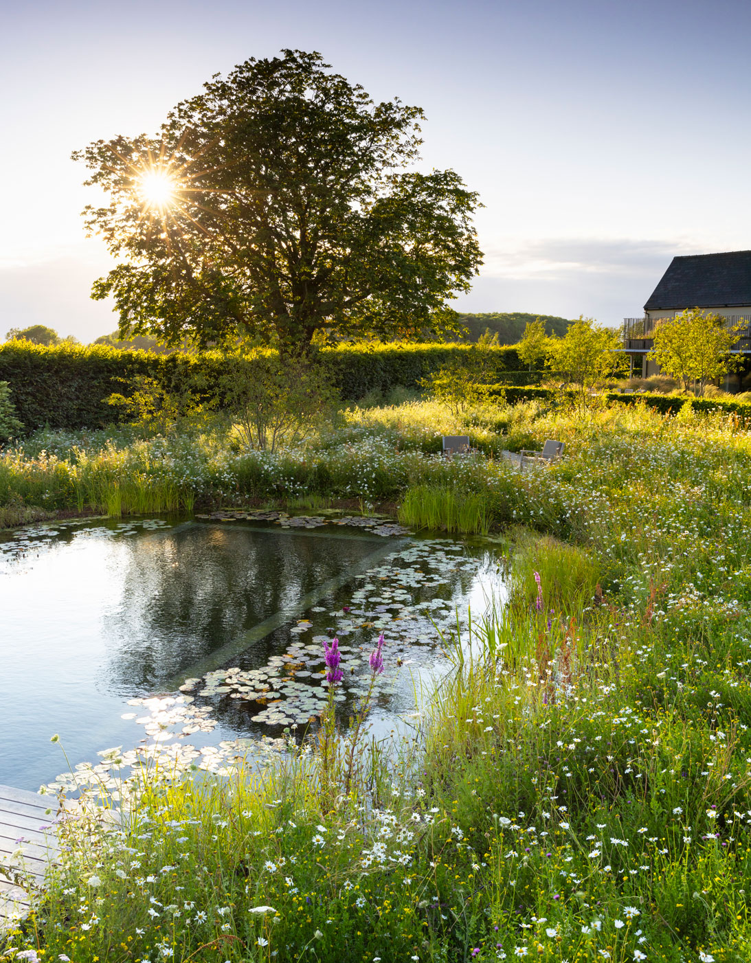
[[[562,338],[550,339],[546,364],[576,390],[583,403],[595,385],[625,370],[626,359],[619,347],[617,332],[596,325],[592,318],[580,317]]]

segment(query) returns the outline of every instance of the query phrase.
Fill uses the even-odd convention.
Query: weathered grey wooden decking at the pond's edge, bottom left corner
[[[50,827],[57,806],[54,795],[0,785],[0,930],[29,909],[29,894],[14,881],[13,871],[25,872],[33,883],[41,883],[47,863],[58,851]]]

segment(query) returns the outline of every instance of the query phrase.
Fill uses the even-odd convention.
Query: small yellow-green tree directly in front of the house
[[[741,326],[729,328],[725,318],[698,307],[682,311],[660,320],[647,356],[664,374],[683,381],[686,391],[693,383],[702,395],[708,381],[742,366],[742,357],[730,353],[738,344]]]

